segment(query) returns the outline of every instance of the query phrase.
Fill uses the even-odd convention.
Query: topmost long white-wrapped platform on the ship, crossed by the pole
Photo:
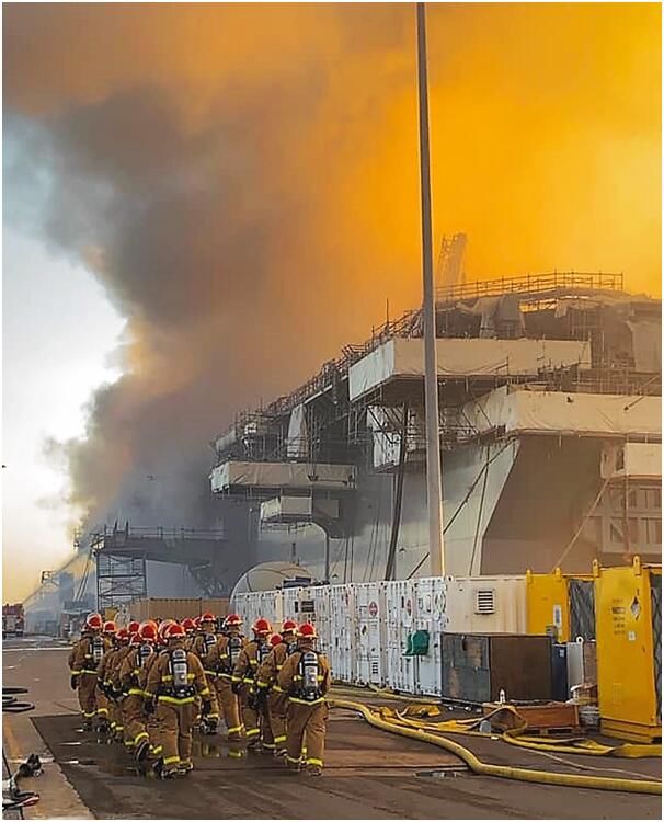
[[[591,347],[576,340],[436,340],[438,376],[537,375],[541,369],[591,366]],[[423,341],[389,340],[351,366],[351,401],[399,377],[422,377]]]

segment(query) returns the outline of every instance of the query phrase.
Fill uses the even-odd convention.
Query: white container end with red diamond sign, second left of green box
[[[382,684],[382,585],[367,582],[355,585],[355,642],[357,649],[356,682]]]

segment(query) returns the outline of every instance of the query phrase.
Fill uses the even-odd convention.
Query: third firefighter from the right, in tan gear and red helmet
[[[233,667],[232,689],[240,699],[247,746],[254,747],[260,741],[262,732],[264,747],[274,750],[270,717],[264,703],[261,703],[261,695],[255,682],[259,666],[272,650],[268,641],[272,626],[267,619],[260,617],[251,629],[254,638],[240,651]]]

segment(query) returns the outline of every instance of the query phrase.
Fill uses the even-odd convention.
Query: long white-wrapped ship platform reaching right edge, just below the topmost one
[[[530,391],[503,386],[463,406],[461,421],[478,433],[662,435],[662,398]]]

